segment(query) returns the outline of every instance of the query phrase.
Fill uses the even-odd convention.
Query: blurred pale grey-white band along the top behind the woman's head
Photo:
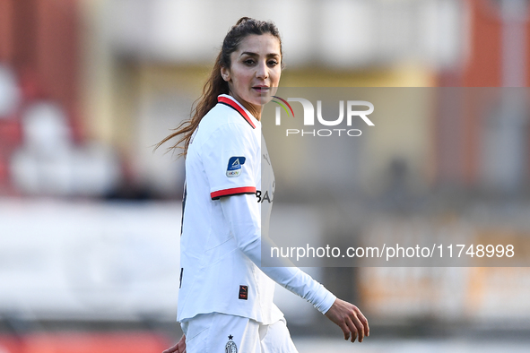
[[[115,50],[155,61],[210,63],[242,16],[272,20],[289,65],[338,68],[413,61],[455,65],[464,52],[458,0],[110,0]]]

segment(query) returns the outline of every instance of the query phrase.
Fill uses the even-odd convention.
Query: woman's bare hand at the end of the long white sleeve
[[[343,330],[344,340],[352,336],[352,342],[356,338],[362,342],[364,336],[369,336],[368,320],[357,306],[336,298],[333,306],[326,312],[326,316]]]

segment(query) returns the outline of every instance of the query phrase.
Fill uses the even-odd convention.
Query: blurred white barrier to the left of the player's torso
[[[179,203],[0,200],[0,312],[177,317]]]

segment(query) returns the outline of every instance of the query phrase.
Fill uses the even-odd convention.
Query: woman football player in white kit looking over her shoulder
[[[336,323],[344,339],[369,335],[361,311],[296,267],[260,267],[274,174],[261,112],[282,73],[282,40],[272,22],[241,18],[226,35],[193,117],[162,142],[184,142],[178,321],[185,335],[166,352],[296,352],[274,281]],[[263,166],[263,170],[262,170]],[[263,179],[262,179],[263,177]],[[267,209],[263,210],[266,207]]]

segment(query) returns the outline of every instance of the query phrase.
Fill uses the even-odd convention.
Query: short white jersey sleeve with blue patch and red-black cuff
[[[248,126],[222,125],[203,145],[203,163],[212,200],[256,194],[259,141]]]

